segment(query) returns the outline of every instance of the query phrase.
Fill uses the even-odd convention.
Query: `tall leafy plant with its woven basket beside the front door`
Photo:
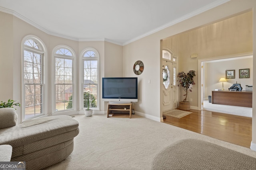
[[[194,70],[190,70],[188,71],[188,73],[185,72],[179,72],[178,73],[178,86],[182,86],[182,88],[185,91],[185,94],[183,96],[185,96],[183,102],[179,103],[179,109],[181,110],[190,110],[190,102],[188,102],[188,91],[192,92],[192,87],[191,85],[196,84],[193,80],[194,76],[196,76],[195,74],[196,71]]]

